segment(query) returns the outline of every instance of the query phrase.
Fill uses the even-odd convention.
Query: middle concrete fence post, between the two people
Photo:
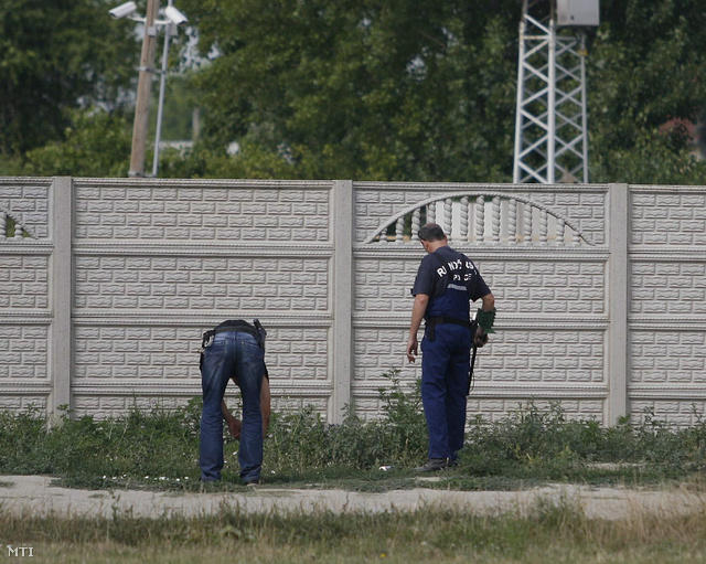
[[[351,402],[353,370],[353,182],[333,182],[333,405],[331,419],[341,423]]]

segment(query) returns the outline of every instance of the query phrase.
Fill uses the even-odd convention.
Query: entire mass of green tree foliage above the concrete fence
[[[600,7],[600,26],[587,30],[590,181],[706,183],[706,162],[689,156],[683,127],[706,117],[702,0]],[[202,109],[203,127],[190,153],[162,152],[160,175],[511,180],[518,0],[180,0],[179,8],[202,54],[215,56],[190,73],[186,88],[168,93],[165,134],[188,129],[189,104]],[[124,139],[125,119],[69,111],[119,108],[120,86],[136,74],[135,24],[105,11],[104,0],[41,9],[18,0],[12,10],[0,0],[6,172],[126,173],[127,151],[106,155],[97,135],[115,127]],[[667,123],[676,127],[665,130]],[[234,142],[239,151],[228,155]]]

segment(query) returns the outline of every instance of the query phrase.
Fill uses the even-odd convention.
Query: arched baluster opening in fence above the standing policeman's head
[[[386,245],[416,242],[419,228],[438,223],[457,244],[592,246],[568,219],[520,195],[453,192],[391,216],[365,241]]]

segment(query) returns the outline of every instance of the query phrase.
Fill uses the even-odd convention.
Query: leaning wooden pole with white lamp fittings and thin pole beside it
[[[142,54],[140,56],[139,79],[137,85],[137,99],[135,103],[135,125],[132,128],[132,151],[130,155],[130,177],[145,175],[145,153],[147,151],[147,126],[149,118],[149,99],[152,83],[151,73],[154,71],[154,44],[157,38],[157,29],[159,26],[164,30],[164,51],[162,53],[162,70],[160,72],[159,105],[157,110],[157,131],[154,135],[154,160],[152,161],[152,177],[157,177],[159,169],[159,143],[162,132],[162,113],[164,109],[164,88],[167,86],[167,62],[169,58],[169,40],[175,34],[175,25],[186,23],[189,20],[172,6],[172,0],[168,0],[169,4],[164,9],[165,20],[158,20],[159,0],[147,1],[147,13],[145,18],[136,15],[137,4],[135,2],[125,2],[108,13],[114,19],[129,18],[145,24],[145,39],[142,40]]]

